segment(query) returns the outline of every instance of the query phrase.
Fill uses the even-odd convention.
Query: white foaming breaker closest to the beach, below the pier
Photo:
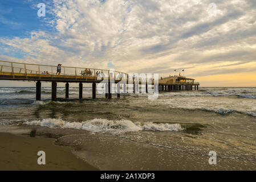
[[[135,132],[141,130],[151,131],[181,131],[181,125],[179,123],[152,123],[152,122],[136,122],[133,123],[127,119],[121,119],[117,121],[108,119],[92,119],[85,122],[67,122],[62,119],[42,119],[35,121],[26,121],[25,125],[38,125],[50,128],[59,129],[79,129],[92,131],[94,133],[126,133]]]

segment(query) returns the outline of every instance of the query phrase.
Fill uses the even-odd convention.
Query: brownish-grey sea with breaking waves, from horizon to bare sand
[[[112,100],[92,88],[0,88],[0,132],[56,138],[103,170],[256,169],[256,88],[121,94]],[[34,132],[32,132],[34,131]],[[32,136],[31,133],[35,133]],[[210,164],[210,153],[217,164]]]

